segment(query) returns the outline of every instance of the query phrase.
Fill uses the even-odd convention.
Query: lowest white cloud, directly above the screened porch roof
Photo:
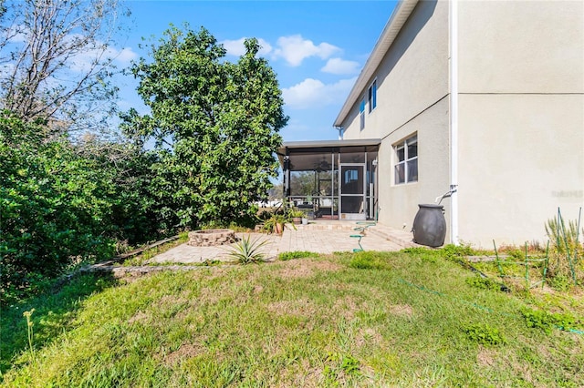
[[[303,109],[307,107],[324,107],[342,103],[349,95],[357,77],[341,79],[334,84],[324,84],[314,78],[307,78],[293,87],[282,89],[282,97],[287,107]]]

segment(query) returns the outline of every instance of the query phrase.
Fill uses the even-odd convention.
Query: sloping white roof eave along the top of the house
[[[333,127],[341,127],[343,121],[347,115],[349,115],[350,108],[353,107],[361,96],[361,91],[367,87],[370,78],[375,74],[377,67],[380,66],[383,56],[389,51],[393,41],[401,31],[401,27],[405,24],[406,20],[408,20],[408,17],[412,15],[413,8],[417,4],[418,0],[401,0],[395,5],[390,20],[388,20],[383,28],[381,36],[373,47],[371,55],[367,59],[365,66],[361,69],[360,75],[357,77],[355,84],[350,89],[349,97],[347,97],[345,103],[340,108],[339,116],[335,119]]]

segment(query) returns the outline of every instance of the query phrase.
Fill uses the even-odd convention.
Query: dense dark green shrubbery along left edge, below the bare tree
[[[67,138],[47,140],[45,128],[0,115],[2,302],[39,291],[72,265],[110,258],[116,240],[157,232],[142,195],[146,161],[116,158],[123,145],[92,153]]]

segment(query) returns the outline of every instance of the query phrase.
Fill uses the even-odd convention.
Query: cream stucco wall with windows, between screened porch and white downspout
[[[418,204],[433,203],[449,188],[448,2],[416,5],[368,87],[373,79],[377,79],[377,107],[371,113],[366,107],[365,128],[360,130],[357,101],[343,122],[344,138],[382,139],[379,220],[409,231]],[[367,88],[361,96],[367,100]],[[393,145],[415,133],[418,182],[394,185]],[[446,199],[443,205],[448,216]]]

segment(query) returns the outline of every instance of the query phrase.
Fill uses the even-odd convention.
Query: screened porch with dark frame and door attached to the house
[[[376,220],[381,139],[292,141],[278,158],[284,197],[316,220]]]

